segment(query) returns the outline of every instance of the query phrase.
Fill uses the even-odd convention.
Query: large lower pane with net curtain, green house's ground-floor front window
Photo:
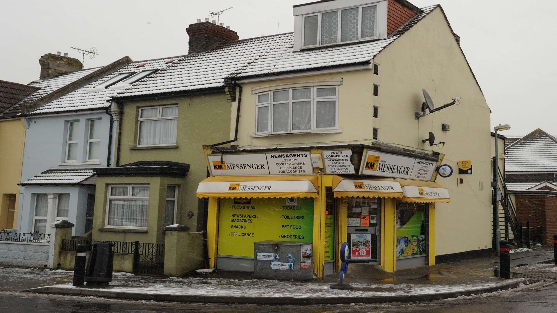
[[[149,200],[110,200],[109,226],[147,227]]]

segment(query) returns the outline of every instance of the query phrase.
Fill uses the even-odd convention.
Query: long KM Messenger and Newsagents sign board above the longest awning
[[[310,151],[212,154],[207,159],[213,176],[313,174]]]

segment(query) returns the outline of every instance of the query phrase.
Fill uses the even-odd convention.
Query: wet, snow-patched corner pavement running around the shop
[[[345,283],[351,290],[333,290],[337,275],[305,282],[256,280],[252,273],[215,271],[184,277],[141,276],[114,273],[109,287],[71,286],[67,280],[26,291],[38,294],[94,296],[114,299],[152,301],[231,303],[231,304],[380,304],[423,302],[481,294],[494,294],[512,288],[524,288],[539,282],[557,280],[553,265],[553,247],[538,247],[511,254],[513,278],[494,277],[499,258],[485,257],[448,262],[431,267],[417,267],[388,273],[378,266],[350,265]],[[3,270],[0,268],[0,275]],[[13,274],[17,271],[13,269]],[[38,271],[38,270],[37,270]],[[0,277],[1,278],[1,277]],[[48,281],[50,282],[50,281]]]

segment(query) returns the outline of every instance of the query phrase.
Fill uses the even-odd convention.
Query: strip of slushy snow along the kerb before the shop
[[[134,283],[88,288],[116,292],[139,292],[141,294],[193,295],[193,296],[251,296],[251,297],[363,297],[363,296],[405,296],[420,294],[441,294],[506,285],[517,280],[476,281],[457,285],[434,285],[399,283],[368,284],[352,283],[353,290],[335,290],[323,282],[295,282],[276,280],[236,280],[231,278],[179,278],[170,277],[152,283]],[[129,284],[128,284],[129,285]],[[71,285],[57,285],[61,288],[76,288]]]

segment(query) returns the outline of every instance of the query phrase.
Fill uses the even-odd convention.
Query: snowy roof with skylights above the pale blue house
[[[178,58],[180,57],[168,57],[160,58],[157,60],[137,61],[130,63],[129,65],[121,67],[121,69],[119,70],[111,72],[111,74],[109,75],[90,82],[90,84],[87,84],[77,90],[71,91],[61,97],[58,97],[55,100],[47,102],[46,104],[38,107],[36,110],[30,112],[29,114],[75,111],[85,109],[102,109],[104,107],[108,107],[110,106],[110,100],[113,98],[113,96],[125,89],[118,88],[118,85],[113,85],[108,88],[95,89],[96,85],[99,85],[101,82],[109,80],[119,74],[162,69],[163,67],[172,64],[167,63],[167,61]],[[138,67],[139,65],[141,66]],[[129,87],[129,85],[124,85],[123,87]]]

